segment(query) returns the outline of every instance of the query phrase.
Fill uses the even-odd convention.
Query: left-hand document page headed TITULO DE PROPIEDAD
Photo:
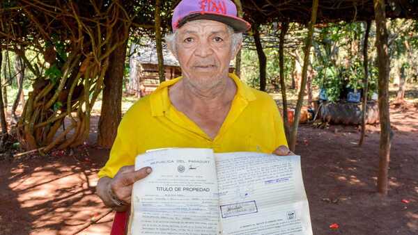
[[[218,234],[219,202],[212,149],[163,149],[136,159],[153,168],[132,191],[131,234]]]

